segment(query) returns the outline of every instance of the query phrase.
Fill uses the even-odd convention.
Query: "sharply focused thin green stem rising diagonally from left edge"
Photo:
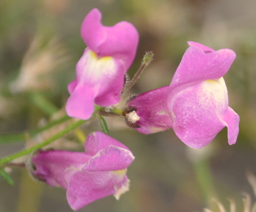
[[[92,116],[92,118],[94,118],[94,116]],[[88,120],[91,120],[92,118],[90,118],[90,119],[88,119]],[[58,139],[58,138],[64,136],[65,134],[67,134],[67,133],[70,132],[71,130],[74,130],[75,128],[77,128],[77,127],[80,126],[81,124],[84,124],[84,123],[85,123],[86,121],[88,121],[88,120],[79,120],[79,121],[75,122],[74,124],[68,126],[66,129],[64,129],[64,130],[62,130],[62,131],[60,131],[60,132],[58,132],[57,134],[55,134],[54,136],[52,136],[51,138],[45,140],[44,142],[42,142],[42,143],[40,143],[40,144],[36,144],[35,146],[32,146],[32,147],[30,147],[30,148],[28,148],[28,149],[25,149],[25,150],[22,150],[22,151],[20,151],[20,152],[17,152],[16,154],[12,154],[12,155],[10,155],[10,156],[7,156],[7,157],[5,157],[5,158],[2,158],[2,159],[0,160],[0,165],[5,164],[5,163],[8,163],[8,162],[14,160],[15,158],[19,158],[19,157],[24,156],[24,155],[26,155],[26,154],[30,154],[30,153],[32,153],[32,152],[34,152],[34,151],[36,151],[36,150],[38,150],[38,149],[40,149],[40,148],[42,148],[42,147],[44,147],[44,146],[46,146],[46,145],[48,145],[48,144],[54,142],[56,139]]]

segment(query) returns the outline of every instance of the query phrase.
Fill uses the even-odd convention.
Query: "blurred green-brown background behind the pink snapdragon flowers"
[[[246,180],[246,172],[256,174],[254,0],[1,0],[0,133],[28,132],[64,115],[66,87],[75,79],[76,62],[86,47],[80,26],[92,8],[102,12],[104,25],[126,20],[138,29],[140,43],[130,76],[144,52],[154,52],[152,64],[129,94],[170,84],[187,41],[234,50],[236,60],[224,79],[229,106],[240,115],[240,133],[236,144],[229,146],[224,128],[210,145],[194,150],[173,130],[143,135],[128,129],[122,117],[106,118],[110,136],[136,157],[127,173],[130,191],[119,201],[108,196],[79,211],[202,212],[205,207],[219,211],[212,198],[228,208],[227,198],[232,197],[239,212],[242,191],[255,202]],[[119,108],[124,101],[125,97]],[[65,124],[24,141],[0,140],[0,156],[42,142]],[[86,134],[100,130],[98,120],[80,129]],[[54,147],[83,151],[77,142],[80,132],[68,134]],[[0,179],[1,212],[72,212],[64,189],[34,182],[22,168],[7,171],[15,186]]]

